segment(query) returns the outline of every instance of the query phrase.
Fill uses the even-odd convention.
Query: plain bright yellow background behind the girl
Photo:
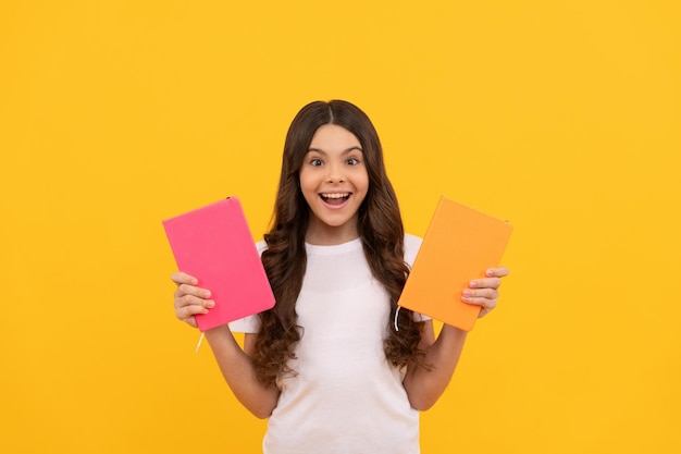
[[[2,2],[0,451],[258,452],[161,219],[238,195],[260,238],[343,98],[410,232],[441,194],[516,225],[423,452],[680,452],[680,4]]]

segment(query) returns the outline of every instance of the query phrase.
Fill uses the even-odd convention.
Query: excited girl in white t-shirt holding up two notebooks
[[[258,244],[276,305],[206,332],[239,402],[269,418],[265,454],[419,453],[419,410],[447,386],[466,332],[408,309],[393,319],[420,246],[406,235],[379,136],[356,106],[304,107],[284,145],[271,230]],[[506,268],[461,295],[496,306]],[[174,273],[175,314],[196,328],[210,290]],[[245,332],[244,348],[232,332]]]

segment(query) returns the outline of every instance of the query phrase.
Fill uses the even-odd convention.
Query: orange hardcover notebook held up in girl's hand
[[[442,197],[398,305],[472,330],[480,306],[463,303],[461,292],[499,265],[512,230],[508,221]]]

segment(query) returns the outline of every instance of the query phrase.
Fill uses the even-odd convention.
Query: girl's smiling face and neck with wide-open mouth
[[[358,210],[369,191],[359,139],[343,126],[320,126],[312,136],[299,177],[310,209],[306,241],[332,245],[357,238]]]

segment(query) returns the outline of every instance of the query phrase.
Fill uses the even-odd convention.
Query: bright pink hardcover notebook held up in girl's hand
[[[242,205],[228,197],[162,221],[179,271],[199,280],[215,306],[197,315],[201,332],[274,306]]]

